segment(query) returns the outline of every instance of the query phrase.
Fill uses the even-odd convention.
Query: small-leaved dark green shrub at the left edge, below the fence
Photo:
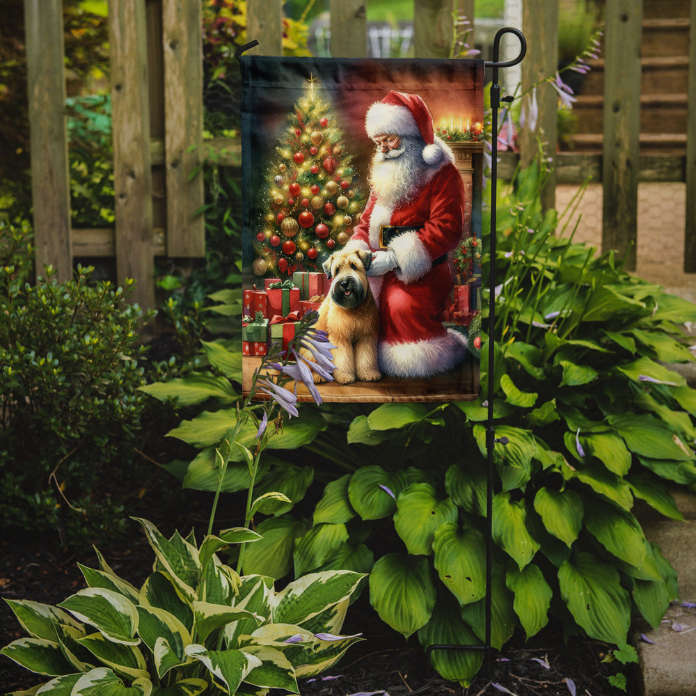
[[[122,524],[109,477],[133,461],[145,315],[130,281],[92,285],[89,268],[67,283],[47,268],[30,284],[28,237],[0,223],[0,518],[65,541]]]

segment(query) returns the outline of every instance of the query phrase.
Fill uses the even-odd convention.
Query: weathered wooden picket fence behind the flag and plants
[[[365,3],[330,0],[331,54],[367,55]],[[202,0],[110,0],[116,226],[75,230],[70,226],[68,139],[65,128],[62,0],[24,0],[29,71],[29,113],[37,268],[52,264],[70,278],[74,258],[116,258],[118,280],[138,280],[136,301],[155,306],[154,258],[203,256]],[[248,0],[248,36],[253,52],[280,55],[282,1]],[[523,89],[556,70],[557,0],[525,0],[523,31],[528,54]],[[450,53],[452,12],[473,17],[474,0],[414,0],[413,45],[419,58]],[[625,253],[635,243],[638,182],[686,182],[684,268],[696,272],[696,118],[688,120],[686,156],[640,155],[640,31],[642,2],[606,0],[603,152],[548,152],[555,170],[544,192],[554,203],[556,183],[588,175],[603,184],[603,248]],[[690,3],[688,104],[696,113],[696,0]],[[474,28],[475,32],[475,28]],[[475,34],[474,34],[475,35]],[[638,37],[638,38],[637,38]],[[469,36],[469,42],[473,40]],[[556,140],[556,94],[539,90],[535,132],[521,134],[523,163],[543,134]],[[221,164],[239,165],[238,141],[210,144]],[[517,156],[505,153],[500,175]],[[635,265],[635,245],[629,264]],[[629,265],[630,267],[630,265]]]

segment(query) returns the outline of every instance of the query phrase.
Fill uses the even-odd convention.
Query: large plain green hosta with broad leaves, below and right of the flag
[[[630,276],[612,253],[563,237],[557,212],[541,211],[544,177],[537,166],[522,171],[497,205],[493,413],[509,443],[493,450],[491,642],[500,648],[518,629],[534,635],[553,617],[567,635],[630,654],[633,615],[656,626],[678,593],[633,505],[681,519],[667,484],[696,484],[696,390],[663,364],[693,361],[680,324],[696,321],[696,306]],[[212,490],[230,396],[206,377],[168,390],[205,401],[171,434],[200,449],[177,467],[184,485]],[[482,642],[488,380],[484,340],[479,401],[329,405],[292,420],[274,446],[298,451],[278,452],[256,486],[292,503],[255,521],[264,538],[248,548],[245,571],[369,571],[372,605],[396,631],[424,647]],[[323,496],[313,492],[313,513],[294,515],[313,480],[329,481]],[[247,484],[240,457],[224,487]],[[443,677],[461,683],[481,660],[433,653]]]

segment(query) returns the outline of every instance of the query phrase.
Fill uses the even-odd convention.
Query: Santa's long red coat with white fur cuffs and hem
[[[397,377],[430,377],[449,370],[466,354],[466,340],[445,329],[442,315],[452,291],[448,262],[436,262],[456,248],[464,227],[464,184],[451,150],[440,141],[441,153],[422,177],[422,188],[406,203],[383,205],[370,194],[350,246],[379,250],[382,225],[409,226],[388,248],[399,268],[371,276],[378,300],[379,367]]]

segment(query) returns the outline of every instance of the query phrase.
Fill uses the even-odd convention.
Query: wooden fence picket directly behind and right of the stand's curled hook
[[[522,29],[527,40],[527,56],[522,61],[522,91],[555,74],[558,68],[558,3],[556,0],[532,0],[523,3]],[[531,95],[530,95],[531,96]],[[529,97],[525,97],[525,100]],[[520,134],[520,159],[523,167],[529,166],[539,152],[537,141],[543,144],[544,157],[551,159],[551,173],[541,191],[541,207],[544,210],[555,207],[556,200],[556,111],[558,95],[556,90],[541,82],[537,87],[539,118],[536,128],[530,130],[528,124]],[[543,166],[543,163],[539,163]]]

